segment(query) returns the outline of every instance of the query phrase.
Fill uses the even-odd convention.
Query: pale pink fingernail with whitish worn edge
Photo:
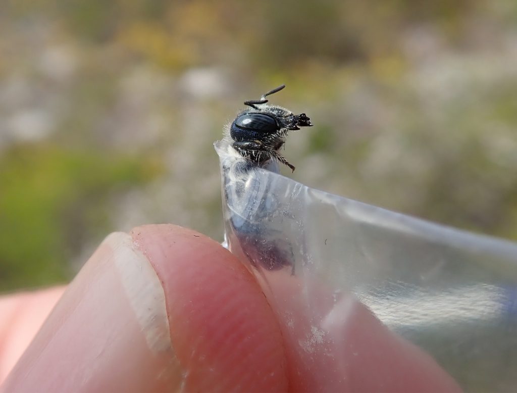
[[[6,391],[179,390],[163,286],[130,235],[107,237],[67,288]]]

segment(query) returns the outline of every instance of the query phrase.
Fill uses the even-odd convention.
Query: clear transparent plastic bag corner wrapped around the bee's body
[[[325,341],[331,367],[347,367],[333,325],[351,315],[352,294],[464,390],[517,388],[517,244],[311,189],[224,142],[216,150],[227,247],[300,352]],[[297,326],[300,313],[310,326]]]

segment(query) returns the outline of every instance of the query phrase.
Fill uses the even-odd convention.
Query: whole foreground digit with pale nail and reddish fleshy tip
[[[132,235],[104,241],[3,389],[285,389],[280,331],[246,269],[177,226]]]

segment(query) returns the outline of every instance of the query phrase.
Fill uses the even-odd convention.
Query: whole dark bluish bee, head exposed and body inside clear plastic
[[[282,233],[284,225],[292,225],[278,208],[272,172],[281,162],[294,171],[294,166],[279,153],[289,131],[312,126],[305,113],[267,105],[267,96],[277,93],[279,86],[262,95],[260,100],[245,101],[250,107],[241,111],[226,128],[227,137],[220,146],[230,154],[222,160],[223,203],[226,236],[230,249],[255,268],[277,270],[290,267],[295,271],[293,246]],[[245,159],[241,159],[244,157]],[[266,168],[262,176],[255,169]]]

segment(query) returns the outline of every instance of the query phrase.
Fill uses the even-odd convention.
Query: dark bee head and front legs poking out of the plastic
[[[311,127],[311,119],[305,113],[293,114],[290,110],[267,105],[267,96],[280,92],[285,85],[278,86],[263,94],[260,100],[244,101],[251,109],[241,111],[230,126],[233,148],[242,156],[255,163],[277,160],[294,172],[279,150],[285,143],[289,131],[300,127]]]

